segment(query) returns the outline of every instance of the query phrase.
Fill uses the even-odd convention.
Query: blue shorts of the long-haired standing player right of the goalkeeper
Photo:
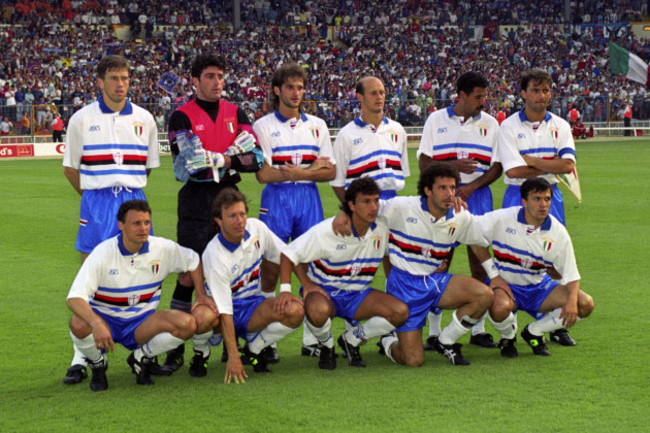
[[[315,183],[270,183],[262,191],[260,220],[284,243],[323,221]]]

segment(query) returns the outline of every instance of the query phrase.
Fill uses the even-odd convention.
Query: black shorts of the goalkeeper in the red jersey
[[[237,189],[233,182],[187,182],[178,191],[178,223],[176,240],[179,245],[203,254],[208,242],[217,232],[212,228],[212,202],[224,188]]]

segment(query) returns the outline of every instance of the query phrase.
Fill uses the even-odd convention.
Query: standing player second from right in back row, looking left
[[[420,172],[434,161],[452,164],[460,172],[460,185],[456,195],[462,198],[473,215],[492,210],[490,184],[501,176],[501,164],[496,162],[496,144],[499,137],[497,120],[483,111],[488,94],[488,81],[481,74],[466,72],[456,81],[458,103],[432,113],[424,124],[417,157]],[[449,256],[449,261],[453,251]],[[486,274],[470,246],[467,247],[472,277],[485,281]],[[448,268],[451,263],[446,263]],[[436,314],[437,313],[437,314]],[[442,313],[431,311],[429,336],[425,350],[434,350],[440,335]],[[492,335],[485,332],[485,319],[472,327],[469,342],[482,347],[495,348]]]

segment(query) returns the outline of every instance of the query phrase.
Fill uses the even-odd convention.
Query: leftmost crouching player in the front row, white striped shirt
[[[150,367],[160,353],[190,338],[194,318],[174,310],[156,311],[162,283],[172,272],[188,272],[203,284],[198,254],[168,239],[150,236],[151,209],[143,200],[122,203],[120,234],[90,253],[68,294],[70,336],[92,371],[90,389],[108,388],[105,353],[120,343],[139,385],[153,385]]]

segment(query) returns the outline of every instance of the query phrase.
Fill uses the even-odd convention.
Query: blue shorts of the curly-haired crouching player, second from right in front
[[[412,275],[393,266],[386,279],[386,293],[395,296],[409,307],[409,318],[395,331],[422,329],[427,322],[429,310],[437,308],[451,277],[453,275],[446,272]]]

